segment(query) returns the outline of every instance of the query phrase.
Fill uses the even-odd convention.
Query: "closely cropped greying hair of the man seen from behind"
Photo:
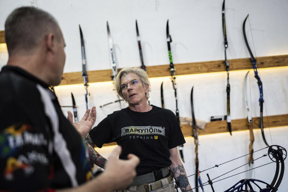
[[[32,51],[49,32],[53,32],[56,40],[60,41],[61,30],[49,13],[35,7],[13,10],[5,22],[5,40],[9,55]]]

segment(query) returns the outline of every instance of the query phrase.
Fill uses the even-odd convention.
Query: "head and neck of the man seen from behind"
[[[65,42],[51,14],[35,7],[13,10],[5,22],[5,40],[9,58],[36,57],[39,64],[35,70],[24,68],[49,85],[60,83],[66,57]]]

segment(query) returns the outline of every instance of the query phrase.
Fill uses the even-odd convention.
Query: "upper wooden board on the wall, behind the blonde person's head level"
[[[252,69],[250,58],[230,59],[230,70]],[[275,55],[257,58],[257,68],[288,66],[288,55]],[[204,61],[194,63],[175,64],[176,75],[187,75],[196,73],[211,73],[226,71],[223,60]],[[118,71],[121,69],[118,69]],[[170,67],[167,65],[146,66],[148,76],[161,77],[170,76]],[[87,71],[88,82],[111,81],[112,70]],[[82,72],[63,73],[60,85],[83,83]]]

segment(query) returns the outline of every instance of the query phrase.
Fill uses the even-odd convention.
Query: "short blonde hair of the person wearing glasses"
[[[115,79],[115,88],[116,88],[118,95],[120,95],[125,100],[125,98],[122,95],[122,91],[120,91],[119,87],[121,84],[121,81],[120,81],[121,77],[126,76],[128,73],[135,73],[136,75],[138,75],[140,77],[140,80],[142,80],[142,82],[143,82],[143,86],[149,85],[148,92],[145,94],[146,100],[148,101],[148,99],[150,98],[149,92],[152,91],[150,80],[149,80],[149,77],[148,77],[146,71],[143,69],[140,69],[138,67],[134,67],[134,68],[125,67],[121,71],[119,71],[119,73]]]

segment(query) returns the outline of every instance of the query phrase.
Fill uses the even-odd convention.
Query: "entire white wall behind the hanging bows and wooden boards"
[[[221,9],[222,0],[126,0],[126,1],[75,1],[75,0],[22,0],[0,1],[0,30],[4,30],[7,15],[16,7],[33,5],[51,13],[58,20],[67,44],[66,65],[64,72],[81,71],[81,52],[78,24],[84,35],[87,70],[101,70],[110,68],[106,21],[110,25],[110,32],[116,52],[118,67],[140,66],[139,50],[136,39],[135,19],[138,21],[144,62],[146,66],[168,64],[166,43],[166,22],[169,19],[170,35],[174,63],[213,61],[224,59],[223,32]],[[288,1],[268,0],[226,0],[226,28],[228,38],[227,58],[247,58],[249,53],[244,44],[242,23],[249,13],[253,33],[256,56],[288,54]],[[249,20],[246,22],[247,38],[254,53]],[[1,49],[0,67],[7,62],[7,52]],[[246,117],[243,81],[248,70],[230,72],[230,105],[231,118]],[[259,75],[263,82],[264,116],[288,113],[288,67],[260,69]],[[210,116],[226,114],[226,72],[204,73],[177,76],[179,111],[181,117],[191,117],[190,91],[194,86],[194,111],[196,119],[209,121]],[[253,70],[248,78],[248,95],[251,99],[253,117],[259,116],[259,89]],[[165,107],[175,111],[175,98],[170,77],[151,78],[151,104],[161,106],[160,84],[164,81]],[[119,110],[119,104],[111,104],[99,108],[117,99],[113,91],[112,82],[90,83],[89,106],[97,107],[97,125],[102,119],[114,110]],[[55,87],[61,105],[71,105],[70,92],[76,99],[78,116],[85,112],[84,86],[65,85]],[[127,104],[122,103],[122,107]],[[63,108],[66,115],[67,109]],[[288,149],[288,129],[265,129],[268,143],[281,145]],[[212,134],[199,136],[199,169],[204,170],[214,164],[220,164],[233,157],[248,153],[248,131]],[[261,133],[254,130],[254,149],[265,147]],[[194,173],[194,144],[193,138],[185,138],[184,164],[187,173]],[[104,147],[101,153],[107,154],[113,147]],[[214,168],[209,175],[212,178],[244,164],[247,159],[239,163],[227,165],[227,168]],[[264,161],[263,161],[264,162]],[[255,163],[261,165],[263,163]],[[225,165],[226,166],[226,165]],[[270,183],[274,172],[274,165],[270,168],[261,167],[255,170],[253,178]],[[216,170],[215,170],[216,169]],[[222,170],[223,169],[223,170]],[[221,171],[220,171],[221,170]],[[239,171],[240,172],[240,171]],[[236,173],[239,173],[236,172]],[[228,174],[229,175],[229,174]],[[206,173],[202,179],[207,180]],[[216,191],[226,190],[246,175],[232,177],[214,184]],[[189,179],[194,186],[194,179]],[[288,174],[285,172],[284,181],[279,191],[288,187]],[[211,191],[208,187],[205,191]]]

